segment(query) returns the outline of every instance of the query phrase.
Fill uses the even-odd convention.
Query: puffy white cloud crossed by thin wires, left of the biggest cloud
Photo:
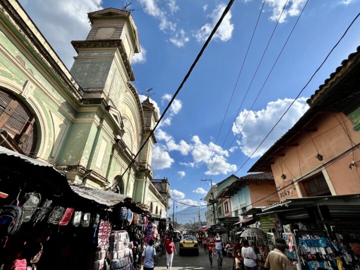
[[[209,144],[204,144],[196,135],[193,136],[191,140],[193,142],[193,149],[191,151],[191,155],[195,163],[208,162],[208,170],[205,172],[205,174],[226,174],[228,172],[236,170],[235,164],[230,164],[226,161],[226,156],[228,156],[228,153],[226,152],[226,150],[223,150],[219,145],[215,145],[213,142],[210,142]],[[218,157],[216,158],[217,155]]]

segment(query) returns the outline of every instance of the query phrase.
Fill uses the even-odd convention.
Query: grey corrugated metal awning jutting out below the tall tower
[[[72,183],[69,183],[69,185],[71,189],[81,197],[93,200],[106,206],[114,206],[124,201],[124,199],[129,198],[129,196],[124,194],[119,194],[103,189],[95,189],[86,186],[75,185]]]

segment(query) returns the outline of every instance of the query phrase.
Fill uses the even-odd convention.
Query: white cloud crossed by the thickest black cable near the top
[[[194,37],[197,41],[203,42],[207,39],[216,22],[220,18],[222,12],[224,11],[226,5],[218,4],[214,10],[207,16],[211,19],[211,22],[205,23],[199,30],[197,30],[194,34]],[[230,22],[231,19],[231,11],[228,11],[225,17],[223,18],[220,26],[217,28],[216,33],[214,34],[214,39],[219,39],[221,41],[227,41],[231,38],[233,31],[233,24]]]

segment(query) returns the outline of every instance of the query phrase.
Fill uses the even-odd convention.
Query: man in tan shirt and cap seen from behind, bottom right
[[[275,249],[268,253],[265,261],[265,268],[271,270],[290,270],[290,261],[284,254],[286,242],[283,238],[276,237],[274,241]]]

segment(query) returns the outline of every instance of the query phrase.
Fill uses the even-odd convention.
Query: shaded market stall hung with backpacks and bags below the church
[[[0,170],[3,269],[137,267],[152,222],[130,198],[68,183],[65,172],[3,147]]]

